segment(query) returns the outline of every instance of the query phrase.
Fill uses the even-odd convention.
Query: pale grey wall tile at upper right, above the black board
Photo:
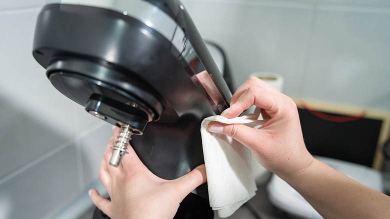
[[[390,10],[319,4],[302,97],[390,109]]]

